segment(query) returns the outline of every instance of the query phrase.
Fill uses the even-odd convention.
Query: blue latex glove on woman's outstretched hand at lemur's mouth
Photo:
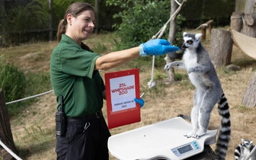
[[[161,56],[178,50],[180,50],[178,46],[171,46],[171,43],[168,42],[168,40],[163,39],[149,40],[148,42],[139,45],[140,56]]]

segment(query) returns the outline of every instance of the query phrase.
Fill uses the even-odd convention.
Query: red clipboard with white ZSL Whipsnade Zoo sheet
[[[140,121],[139,69],[105,73],[108,128]]]

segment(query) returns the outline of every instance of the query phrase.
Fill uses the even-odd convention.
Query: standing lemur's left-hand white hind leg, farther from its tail
[[[194,137],[195,134],[197,133],[197,130],[199,130],[199,125],[198,125],[198,117],[199,117],[199,110],[200,110],[200,102],[201,102],[201,95],[200,91],[196,89],[194,92],[194,106],[191,110],[191,124],[192,124],[192,130],[188,133],[185,133],[184,136],[187,136],[187,138]]]

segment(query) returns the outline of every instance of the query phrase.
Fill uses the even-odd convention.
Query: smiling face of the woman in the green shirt
[[[95,27],[95,14],[94,11],[83,11],[82,14],[74,18],[71,14],[67,16],[68,27],[66,34],[81,43],[82,40],[88,39]]]

